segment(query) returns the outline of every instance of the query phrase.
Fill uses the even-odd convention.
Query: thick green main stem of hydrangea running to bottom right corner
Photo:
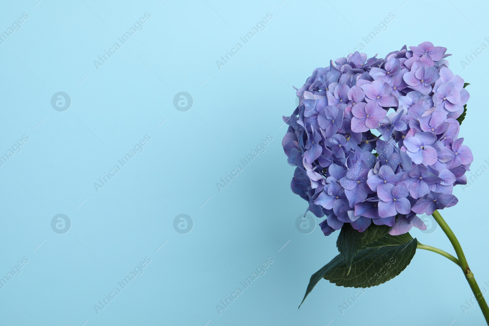
[[[465,258],[464,251],[462,250],[462,247],[460,246],[460,242],[458,241],[457,237],[455,237],[455,234],[453,233],[452,229],[446,224],[445,219],[438,213],[438,211],[434,211],[432,216],[436,219],[438,222],[438,225],[442,228],[443,232],[445,232],[446,236],[452,243],[453,249],[455,249],[455,253],[457,254],[457,257],[460,262],[460,267],[462,268],[462,271],[464,272],[464,275],[467,279],[468,285],[470,286],[470,289],[472,290],[472,293],[474,294],[475,298],[477,299],[477,303],[479,304],[479,307],[482,310],[482,314],[484,315],[484,318],[486,319],[486,323],[489,325],[489,307],[488,304],[486,303],[486,299],[484,299],[484,296],[482,295],[481,289],[479,288],[479,285],[475,281],[474,274],[470,271],[470,268],[468,267],[467,264],[467,259]]]

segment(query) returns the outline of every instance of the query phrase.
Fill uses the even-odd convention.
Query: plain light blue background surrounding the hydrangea
[[[460,64],[489,45],[488,4],[281,1],[1,4],[1,32],[29,15],[0,44],[0,153],[29,137],[0,167],[0,276],[29,260],[0,289],[2,325],[484,325],[477,306],[462,311],[472,293],[461,271],[421,250],[343,315],[338,305],[357,290],[324,280],[298,310],[311,274],[337,254],[337,233],[296,230],[307,203],[290,191],[294,168],[281,125],[295,108],[292,86],[358,43],[384,56],[431,41],[448,48],[450,67],[472,84],[461,134],[474,154],[472,172],[489,167],[482,136],[489,50],[466,69]],[[146,12],[143,30],[97,70],[93,61]],[[362,37],[391,12],[387,29],[366,44]],[[216,60],[267,13],[265,30],[219,69]],[[50,105],[58,91],[71,98],[67,111]],[[194,99],[189,111],[173,106],[180,91]],[[97,192],[93,183],[144,135],[151,136],[144,151]],[[266,152],[219,192],[216,183],[267,135]],[[487,290],[488,181],[482,174],[469,188],[457,186],[458,205],[442,212]],[[56,214],[70,218],[66,234],[51,229]],[[175,231],[179,214],[193,219],[190,233]],[[440,229],[411,234],[454,254]],[[94,304],[145,257],[144,273],[97,314]],[[219,314],[216,305],[267,257],[266,274]]]

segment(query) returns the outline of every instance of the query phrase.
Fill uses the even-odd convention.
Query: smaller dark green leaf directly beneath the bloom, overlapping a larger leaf
[[[336,240],[336,247],[349,267],[347,275],[350,273],[353,258],[358,250],[368,243],[382,238],[390,227],[387,225],[370,225],[365,231],[358,232],[350,223],[345,223],[341,228],[338,239]]]

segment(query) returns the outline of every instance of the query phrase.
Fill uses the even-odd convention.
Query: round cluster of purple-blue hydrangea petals
[[[326,236],[351,223],[371,223],[391,235],[458,202],[453,186],[467,184],[473,160],[458,138],[469,94],[430,42],[367,59],[355,52],[317,68],[297,89],[300,104],[282,145],[296,166],[290,187],[325,218]]]

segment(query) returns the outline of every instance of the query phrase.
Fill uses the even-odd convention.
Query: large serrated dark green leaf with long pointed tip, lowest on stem
[[[311,276],[301,305],[321,278],[338,286],[363,288],[393,279],[409,265],[417,245],[418,240],[413,239],[409,233],[400,236],[386,235],[358,250],[348,275],[349,267],[343,257],[334,257]]]

